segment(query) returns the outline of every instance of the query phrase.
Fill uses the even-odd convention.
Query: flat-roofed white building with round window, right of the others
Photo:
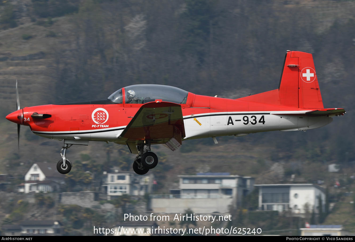
[[[326,196],[324,189],[314,184],[263,184],[259,188],[259,210],[286,211],[293,213],[318,213],[319,198],[325,209]]]

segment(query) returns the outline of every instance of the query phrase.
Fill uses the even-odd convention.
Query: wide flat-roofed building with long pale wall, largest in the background
[[[151,208],[156,213],[226,213],[238,207],[242,197],[253,190],[254,178],[229,173],[179,175],[179,189],[169,195],[152,195]]]

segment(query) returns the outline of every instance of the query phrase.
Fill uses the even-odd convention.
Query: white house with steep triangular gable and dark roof
[[[24,176],[24,187],[19,186],[18,191],[29,192],[52,192],[64,184],[64,174],[60,174],[55,163],[36,162]]]

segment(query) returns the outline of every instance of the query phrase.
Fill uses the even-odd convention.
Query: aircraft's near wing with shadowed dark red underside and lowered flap
[[[181,146],[185,137],[181,105],[170,102],[151,102],[141,106],[119,139],[125,140],[131,152],[136,144],[151,140],[151,144],[164,144],[171,150]]]

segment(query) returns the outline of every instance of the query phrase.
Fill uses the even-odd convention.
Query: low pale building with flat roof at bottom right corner
[[[301,236],[346,236],[348,231],[342,225],[310,225],[309,228],[302,228]]]

